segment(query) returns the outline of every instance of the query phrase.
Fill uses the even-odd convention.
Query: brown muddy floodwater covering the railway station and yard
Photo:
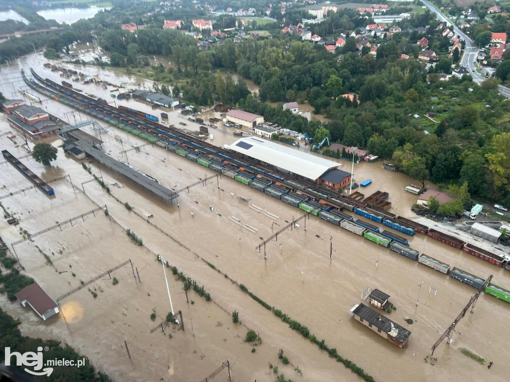
[[[32,59],[2,68],[3,73],[10,74],[14,86],[19,79],[20,66],[27,71],[30,65],[37,65],[34,69],[41,76],[59,80],[58,73],[42,68],[42,59],[40,62]],[[106,70],[99,71],[103,72],[116,82],[124,79]],[[134,79],[125,79],[134,82]],[[9,90],[11,83],[2,85],[2,91]],[[107,95],[94,85],[78,84],[76,87],[84,93]],[[120,102],[155,114],[142,103]],[[88,118],[76,112],[68,114],[71,108],[52,100],[43,100],[42,107],[62,119],[69,118],[70,122],[74,118]],[[207,118],[212,115],[212,112],[205,114]],[[188,124],[189,121],[185,122],[177,114],[169,117],[169,123],[174,123],[172,119],[177,122],[176,126],[184,121],[187,125],[180,127],[198,130],[198,125]],[[109,131],[101,134],[105,153],[115,159],[129,160],[130,165],[155,177],[168,188],[183,188],[200,178],[217,174],[158,146],[146,145],[139,152],[129,151],[126,158],[118,138],[123,139],[124,148],[126,145],[142,146],[146,142],[113,126],[106,127]],[[96,134],[91,127],[84,130]],[[0,146],[17,157],[26,155],[22,140],[16,137],[13,142],[7,138],[10,135],[5,134],[7,131],[10,128],[5,117],[0,115]],[[219,126],[211,131],[214,137],[212,141],[208,140],[215,145],[232,144],[236,140],[228,128]],[[115,135],[118,135],[117,139]],[[50,142],[55,147],[61,144],[59,140]],[[33,143],[29,145],[33,147]],[[306,150],[304,147],[299,149]],[[94,174],[103,177],[111,195],[96,181],[83,183],[93,179],[92,176],[79,160],[66,156],[61,148],[51,167],[45,168],[31,158],[21,161],[46,181],[67,174],[75,186],[67,178],[52,183],[55,197],[48,198],[32,189],[3,199],[3,206],[19,217],[22,229],[35,233],[104,205],[112,218],[110,220],[103,212],[95,217],[88,215],[84,220],[73,222],[72,227],[66,224],[62,231],[57,227],[34,237],[33,242],[17,244],[15,250],[25,271],[52,298],[129,258],[138,268],[141,283],[133,276],[131,266],[120,268],[112,275],[119,280],[117,285],[113,285],[108,276],[95,281],[65,298],[63,314],[44,323],[28,308],[9,303],[5,296],[1,297],[0,305],[20,319],[23,334],[69,343],[87,354],[94,366],[114,380],[201,380],[226,359],[233,364],[233,380],[237,381],[273,381],[275,375],[268,363],[277,365],[278,373],[284,373],[286,378],[294,381],[361,380],[311,341],[292,331],[223,274],[245,285],[270,306],[308,326],[316,338],[324,339],[330,348],[336,348],[339,354],[355,362],[377,381],[508,380],[510,349],[506,344],[510,335],[506,325],[510,305],[484,293],[480,295],[474,313],[468,311],[457,324],[451,344],[443,342],[437,348],[435,365],[424,361],[431,346],[462,311],[476,289],[416,261],[313,215],[301,220],[296,229],[287,229],[276,240],[270,241],[266,245],[267,259],[264,259],[264,249],[262,253],[256,250],[261,237],[271,236],[293,217],[301,216],[303,211],[233,179],[213,178],[205,185],[189,188],[189,193],[180,193],[177,206],[176,202],[163,203],[93,160],[87,160],[86,165]],[[351,162],[338,162],[343,170],[351,170]],[[376,190],[388,192],[388,200],[392,202],[390,211],[412,219],[415,215],[410,207],[416,202],[416,196],[404,192],[403,187],[413,180],[386,171],[381,164],[354,163],[357,182],[372,180],[368,187],[358,190],[365,196]],[[0,197],[31,185],[11,165],[0,165]],[[133,210],[127,210],[124,202]],[[258,212],[260,209],[268,213]],[[139,215],[151,216],[148,219],[151,224]],[[251,230],[236,223],[239,221],[249,225]],[[131,241],[123,228],[135,232],[144,246],[139,247]],[[21,238],[19,228],[9,226],[4,220],[0,223],[0,235],[8,244]],[[481,278],[494,275],[494,283],[510,287],[510,272],[424,235],[406,238],[409,238],[411,247],[420,252]],[[330,243],[333,247],[331,259]],[[162,255],[203,285],[213,299],[206,302],[189,291],[190,303],[187,303],[183,284],[167,269],[173,307],[175,311],[182,311],[184,332],[169,328],[165,335],[161,331],[149,333],[170,310],[162,265],[156,261],[155,254]],[[66,272],[59,274],[61,271]],[[349,309],[362,301],[362,291],[368,286],[391,295],[390,302],[397,309],[384,314],[412,332],[403,349],[352,319]],[[92,292],[97,293],[97,298]],[[368,301],[364,303],[368,304]],[[157,314],[155,321],[149,318],[153,310]],[[234,310],[239,312],[241,325],[232,322]],[[414,323],[407,324],[404,318],[412,318]],[[253,346],[244,342],[248,329],[260,335],[261,344]],[[172,334],[172,338],[168,334]],[[131,359],[127,358],[124,340],[129,346]],[[278,360],[279,348],[284,349],[289,365]],[[492,361],[492,368],[464,356],[461,348],[479,354],[486,360],[486,365]],[[302,371],[302,376],[294,371],[296,367]],[[227,380],[226,370],[215,380]]]

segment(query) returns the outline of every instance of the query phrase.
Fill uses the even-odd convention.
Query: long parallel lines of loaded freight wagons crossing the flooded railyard
[[[193,137],[185,135],[175,128],[166,127],[157,123],[157,117],[151,116],[156,118],[156,120],[154,120],[152,118],[147,118],[150,116],[148,114],[124,106],[115,108],[110,105],[101,104],[90,97],[85,97],[78,92],[66,89],[53,81],[42,79],[33,69],[31,69],[31,71],[39,82],[50,89],[37,84],[33,80],[29,80],[22,72],[25,83],[33,89],[53,97],[57,101],[78,108],[92,117],[104,120],[142,139],[165,147],[168,151],[189,158],[213,171],[233,178],[252,188],[256,188],[267,195],[280,199],[287,204],[293,205],[350,232],[363,236],[370,241],[441,271],[471,286],[479,287],[483,284],[483,279],[461,269],[455,267],[451,268],[450,265],[426,254],[420,254],[419,251],[409,247],[407,239],[393,232],[388,230],[380,233],[375,232],[373,229],[375,226],[360,220],[356,221],[356,223],[360,224],[353,223],[352,215],[346,213],[344,210],[352,211],[369,220],[384,224],[410,236],[413,236],[416,232],[428,235],[429,237],[440,240],[452,247],[461,249],[464,252],[510,271],[510,256],[501,257],[495,255],[475,247],[472,244],[465,243],[456,237],[428,228],[405,219],[404,217],[377,208],[369,208],[368,204],[362,201],[343,195],[330,194],[310,181],[304,179],[297,180],[295,177],[279,174],[275,170],[266,169],[254,162],[247,163],[246,161],[248,161],[248,159],[241,158],[235,152],[223,150],[207,142],[195,140]],[[60,93],[68,97],[62,97]],[[365,224],[362,226],[361,224],[363,223]],[[371,226],[370,228],[369,225]],[[482,281],[481,284],[480,280]],[[490,284],[486,287],[486,292],[510,302],[510,290],[506,290],[495,284]]]

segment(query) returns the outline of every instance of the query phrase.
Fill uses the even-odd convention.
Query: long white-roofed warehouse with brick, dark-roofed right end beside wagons
[[[258,137],[238,139],[230,145],[230,149],[279,171],[316,182],[318,185],[339,189],[350,182],[351,174],[338,169],[340,166],[338,162]]]

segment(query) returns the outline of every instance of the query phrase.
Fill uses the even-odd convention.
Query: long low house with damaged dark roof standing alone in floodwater
[[[409,330],[364,304],[354,305],[350,311],[356,321],[368,326],[381,337],[386,338],[400,348],[404,347],[411,336]]]

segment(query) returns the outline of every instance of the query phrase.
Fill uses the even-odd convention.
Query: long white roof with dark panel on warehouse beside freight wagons
[[[316,180],[327,170],[340,166],[333,160],[257,137],[238,139],[230,145],[230,149],[312,180]]]

